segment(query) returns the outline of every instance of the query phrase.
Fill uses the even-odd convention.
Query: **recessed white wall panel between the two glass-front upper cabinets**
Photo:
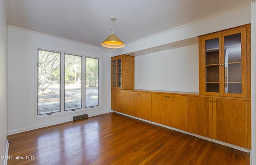
[[[198,44],[135,57],[135,88],[199,92]]]

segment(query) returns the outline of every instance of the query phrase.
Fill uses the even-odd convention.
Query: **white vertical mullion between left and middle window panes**
[[[65,105],[65,53],[60,56],[60,112],[64,112]]]

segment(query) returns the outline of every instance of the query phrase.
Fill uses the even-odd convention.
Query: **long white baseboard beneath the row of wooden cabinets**
[[[225,146],[228,146],[228,147],[231,147],[231,148],[234,148],[234,149],[238,149],[240,151],[244,151],[244,152],[247,152],[247,153],[250,153],[251,150],[250,149],[247,149],[247,148],[244,148],[244,147],[240,147],[240,146],[237,146],[237,145],[233,145],[233,144],[230,144],[230,143],[226,143],[226,142],[223,142],[223,141],[219,141],[219,140],[216,140],[216,139],[211,139],[211,138],[207,138],[207,137],[204,137],[204,136],[200,136],[200,135],[197,135],[197,134],[193,134],[193,133],[190,133],[190,132],[186,132],[186,131],[183,131],[183,130],[179,130],[179,129],[176,129],[176,128],[172,128],[172,127],[169,127],[169,126],[165,126],[165,125],[162,125],[162,124],[158,124],[158,123],[155,123],[155,122],[151,122],[151,121],[148,121],[148,120],[144,120],[144,119],[141,119],[141,118],[136,118],[134,116],[130,116],[128,114],[123,114],[123,113],[120,113],[120,112],[117,112],[117,111],[113,111],[113,112],[116,112],[118,114],[122,114],[122,115],[125,115],[125,116],[128,116],[128,117],[131,117],[131,118],[135,118],[135,119],[138,119],[138,120],[142,120],[144,122],[148,122],[148,123],[151,123],[151,124],[155,124],[155,125],[158,125],[158,126],[162,126],[162,127],[165,127],[165,128],[168,128],[170,130],[174,130],[174,131],[178,131],[178,132],[182,132],[184,134],[188,134],[188,135],[191,135],[191,136],[195,136],[197,138],[200,138],[200,139],[205,139],[205,140],[208,140],[208,141],[212,141],[214,143],[218,143],[218,144],[221,144],[221,145],[225,145]]]

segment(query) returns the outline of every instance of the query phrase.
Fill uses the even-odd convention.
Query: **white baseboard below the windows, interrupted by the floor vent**
[[[101,112],[90,112],[90,114],[88,114],[88,117],[92,117],[92,116],[97,116],[97,115],[101,115],[101,114],[106,114],[112,112],[112,110],[107,110],[107,111],[101,111]],[[55,121],[55,122],[50,122],[47,124],[42,124],[42,125],[36,125],[36,126],[31,126],[31,127],[26,127],[26,128],[22,128],[22,129],[17,129],[17,130],[12,130],[12,131],[8,131],[7,135],[13,135],[13,134],[18,134],[21,132],[26,132],[26,131],[31,131],[31,130],[36,130],[39,128],[44,128],[44,127],[48,127],[48,126],[54,126],[56,124],[62,124],[62,123],[66,123],[66,122],[71,122],[73,121],[72,118],[68,119],[68,120],[60,120],[60,121]]]

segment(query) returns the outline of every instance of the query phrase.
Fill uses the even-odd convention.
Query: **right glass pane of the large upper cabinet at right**
[[[241,33],[224,37],[225,93],[242,93]]]

